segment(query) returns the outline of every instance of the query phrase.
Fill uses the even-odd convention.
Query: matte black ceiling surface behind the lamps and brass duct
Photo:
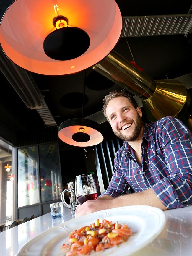
[[[12,1],[1,0],[1,17]],[[122,16],[187,14],[191,1],[127,1],[116,0]],[[162,35],[127,38],[136,64],[154,80],[179,77],[191,73],[192,37]],[[115,51],[132,61],[126,39],[120,38]],[[1,64],[1,63],[0,63]],[[85,71],[65,76],[32,74],[56,124],[82,115],[82,95]],[[0,136],[43,129],[45,125],[36,110],[23,103],[2,72],[0,100]],[[114,89],[121,89],[107,78],[87,69],[83,117],[102,109],[102,98]],[[103,125],[104,129],[108,126]],[[106,127],[106,128],[105,128]],[[13,137],[14,137],[13,136]]]

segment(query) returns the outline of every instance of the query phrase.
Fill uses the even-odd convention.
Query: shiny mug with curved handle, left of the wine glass
[[[75,209],[76,209],[77,204],[78,204],[77,199],[76,199],[76,195],[75,195],[74,182],[67,183],[67,187],[68,187],[68,189],[64,189],[64,191],[61,194],[61,200],[67,208],[71,209],[71,213],[74,215],[75,214]],[[70,205],[67,204],[65,202],[65,199],[64,199],[64,194],[65,194],[66,191],[69,193]]]

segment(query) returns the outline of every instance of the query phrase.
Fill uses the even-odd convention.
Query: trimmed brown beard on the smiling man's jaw
[[[121,132],[119,132],[119,131],[114,131],[114,130],[113,130],[113,132],[114,132],[114,134],[115,134],[117,137],[119,137],[119,138],[122,139],[122,140],[125,140],[125,141],[127,141],[127,142],[129,142],[129,141],[134,141],[134,140],[136,140],[137,137],[139,136],[139,133],[141,132],[141,129],[142,129],[142,127],[143,127],[143,121],[142,121],[142,119],[141,119],[141,117],[139,116],[138,113],[137,113],[136,121],[135,121],[134,123],[135,123],[135,129],[134,129],[132,135],[126,136],[126,135],[123,135]],[[130,128],[128,128],[128,129],[130,129]]]

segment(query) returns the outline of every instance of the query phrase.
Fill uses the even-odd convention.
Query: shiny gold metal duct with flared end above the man
[[[190,95],[181,82],[175,79],[154,81],[115,51],[92,68],[141,98],[149,121],[177,116],[189,106]]]

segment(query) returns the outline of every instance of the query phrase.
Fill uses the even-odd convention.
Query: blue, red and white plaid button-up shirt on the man
[[[152,188],[168,208],[192,204],[192,134],[174,117],[144,123],[141,142],[142,166],[133,149],[124,142],[117,151],[111,182],[102,195],[118,197],[128,187],[135,192]]]

